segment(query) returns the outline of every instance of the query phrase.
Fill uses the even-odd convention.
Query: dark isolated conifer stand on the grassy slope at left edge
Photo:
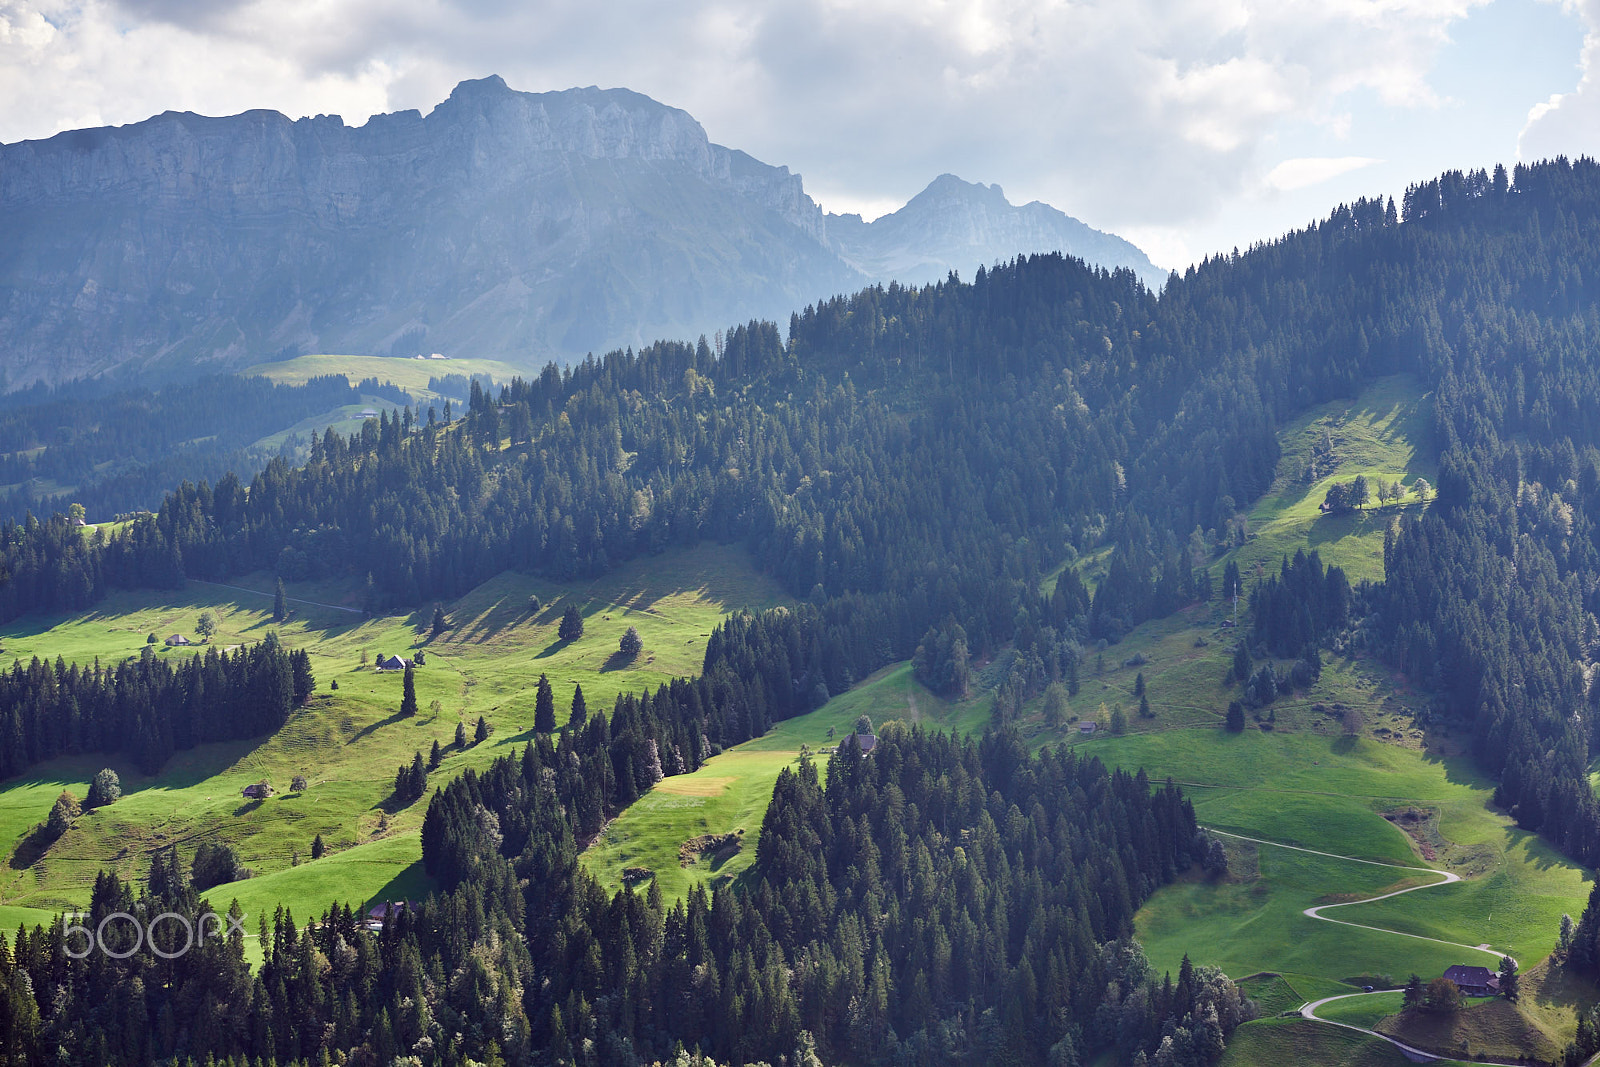
[[[304,651],[277,635],[189,659],[146,646],[110,667],[34,657],[0,672],[0,777],[58,755],[122,753],[154,774],[179,750],[259,737],[304,704],[315,678]]]

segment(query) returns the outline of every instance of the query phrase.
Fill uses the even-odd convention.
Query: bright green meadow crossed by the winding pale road
[[[1446,854],[1466,881],[1331,912],[1333,918],[1466,945],[1488,942],[1531,965],[1549,953],[1562,912],[1582,905],[1587,873],[1488,808],[1491,785],[1464,758],[1438,760],[1370,737],[1186,729],[1088,742],[1122,766],[1189,782],[1202,824],[1264,840],[1406,865],[1427,865],[1381,813],[1400,803],[1437,809]],[[1320,817],[1318,817],[1320,816]],[[1310,920],[1301,910],[1400,888],[1413,872],[1248,846],[1243,880],[1182,881],[1138,918],[1158,968],[1189,952],[1230,974],[1296,971],[1434,976],[1450,963],[1491,966],[1491,953]],[[1237,864],[1235,864],[1237,865]]]

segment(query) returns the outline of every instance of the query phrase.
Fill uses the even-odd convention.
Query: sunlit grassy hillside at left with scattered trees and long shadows
[[[451,629],[437,638],[427,635],[430,609],[363,619],[349,608],[355,590],[339,584],[291,585],[293,617],[274,625],[266,592],[270,581],[254,576],[238,587],[189,582],[170,593],[117,593],[90,613],[26,619],[0,630],[0,654],[107,662],[139,654],[149,633],[192,635],[198,613],[210,609],[219,621],[218,645],[256,641],[277,630],[285,645],[310,653],[317,675],[310,707],[272,737],[182,752],[154,777],[110,760],[122,776],[123,798],[80,817],[37,859],[24,843],[29,829],[62,789],[82,797],[107,760],[58,760],[6,782],[0,787],[0,848],[11,862],[0,870],[0,904],[75,905],[86,897],[96,870],[142,877],[152,849],[178,845],[189,854],[206,838],[230,841],[262,875],[237,886],[242,901],[270,899],[309,915],[333,899],[363,902],[394,894],[386,889],[390,883],[418,896],[426,886],[413,864],[426,803],[387,808],[400,763],[418,750],[426,753],[437,739],[446,758],[430,785],[469,766],[482,769],[526,741],[539,673],[555,686],[565,721],[578,685],[590,707],[605,709],[624,689],[696,673],[706,638],[723,614],[782,600],[742,552],[718,545],[640,560],[589,584],[502,574],[445,605]],[[531,593],[544,601],[536,616],[528,611]],[[584,611],[586,635],[566,643],[557,640],[555,627],[570,598]],[[645,649],[624,661],[614,653],[629,625],[638,629]],[[160,656],[189,654],[157,648]],[[362,657],[418,648],[427,653],[427,664],[416,672],[422,710],[402,720],[400,677],[362,667]],[[469,747],[456,750],[456,725],[467,723],[470,734],[478,715],[493,726],[491,737],[480,745],[469,737]],[[302,795],[288,792],[294,774],[309,779]],[[243,801],[240,790],[261,779],[280,793]],[[330,856],[312,864],[310,841],[318,833]],[[291,865],[296,851],[306,861],[299,867]],[[226,899],[234,891],[214,896]]]

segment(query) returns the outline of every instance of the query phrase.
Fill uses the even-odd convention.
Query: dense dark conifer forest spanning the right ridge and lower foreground
[[[446,893],[378,937],[346,912],[312,929],[285,915],[250,974],[237,944],[74,963],[22,934],[0,950],[5,1051],[611,1067],[682,1043],[726,1061],[1067,1067],[1115,1046],[1210,1064],[1250,1008],[1218,974],[1150,974],[1126,941],[1139,902],[1203,848],[1190,809],[1091,760],[1027,755],[1010,715],[1075,686],[1090,641],[1211,595],[1197,565],[1243,536],[1290,418],[1410,373],[1434,394],[1438,491],[1389,528],[1386,581],[1352,589],[1304,555],[1266,581],[1229,569],[1222,592],[1251,598],[1253,646],[1296,673],[1330,645],[1363,648],[1437,694],[1429,715],[1472,736],[1498,801],[1600,861],[1597,298],[1600,165],[1448,173],[1160,294],[1059,256],[872,288],[797,314],[787,341],[749,323],[715,347],[614,352],[498,394],[474,382],[456,419],[406,410],[318,435],[302,466],[186,483],[109,537],[11,523],[0,619],[254,569],[416,608],[506,568],[595,574],[702,537],[747,545],[800,606],[730,619],[699,678],[437,792],[424,859]],[[1107,544],[1093,595],[1070,568],[1045,595],[1046,573]],[[891,729],[867,758],[846,742],[826,785],[814,766],[786,774],[739,888],[667,907],[606,897],[578,867],[662,776],[893,661],[957,691],[970,657],[1002,646],[1016,654],[994,733]],[[1235,675],[1258,702],[1283,681],[1245,645]],[[94,909],[131,893],[107,877]],[[147,909],[198,907],[171,861],[144,893]]]

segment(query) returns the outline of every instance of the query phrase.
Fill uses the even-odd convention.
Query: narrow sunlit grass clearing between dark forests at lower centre
[[[802,747],[826,760],[821,750],[842,742],[859,715],[867,715],[874,728],[901,720],[976,733],[989,721],[989,699],[950,702],[925,689],[910,664],[885,667],[814,712],[776,723],[765,736],[712,757],[696,773],[662,779],[606,827],[584,853],[584,867],[610,889],[622,885],[626,867],[648,867],[666,899],[696,883],[738,877],[755,861],[778,774],[798,761]],[[712,833],[738,833],[738,853],[704,856],[685,867],[685,841]]]

